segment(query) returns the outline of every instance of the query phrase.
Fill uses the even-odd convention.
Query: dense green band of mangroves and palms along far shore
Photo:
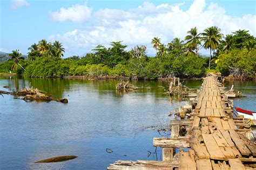
[[[29,47],[27,59],[19,50],[12,51],[10,59],[0,63],[0,72],[29,77],[164,79],[202,77],[207,71],[216,71],[223,76],[246,79],[252,78],[256,70],[256,38],[246,30],[224,37],[217,26],[202,33],[192,28],[184,40],[174,38],[165,45],[154,37],[151,44],[156,50],[155,57],[147,56],[144,45],[127,51],[127,45],[120,41],[111,42],[108,48],[98,45],[83,57],[63,58],[62,43],[42,39]],[[200,55],[203,48],[210,50],[210,57]]]

